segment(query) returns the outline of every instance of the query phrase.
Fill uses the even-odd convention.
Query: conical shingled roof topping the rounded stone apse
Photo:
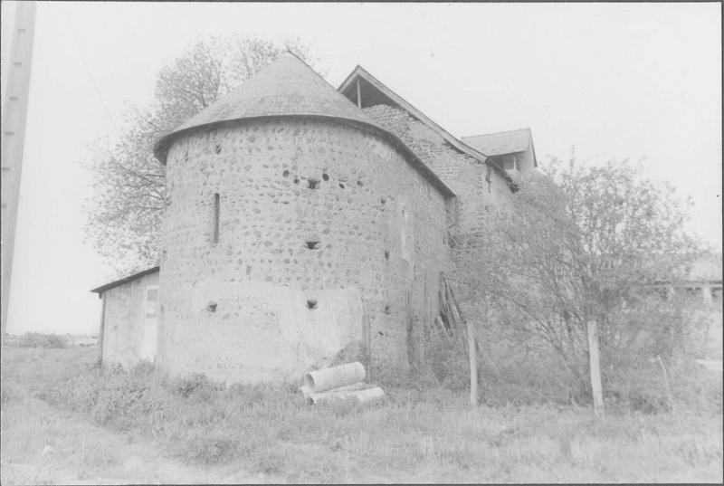
[[[166,163],[172,139],[190,129],[223,121],[281,116],[347,119],[386,131],[300,58],[285,53],[238,88],[160,138],[154,154]]]

